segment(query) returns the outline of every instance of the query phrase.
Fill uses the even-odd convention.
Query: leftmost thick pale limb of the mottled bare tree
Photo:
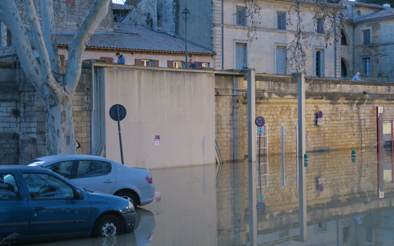
[[[15,46],[20,63],[26,75],[34,85],[35,89],[39,91],[43,81],[40,75],[40,67],[34,57],[32,46],[26,33],[26,28],[20,18],[19,11],[14,1],[0,1],[0,8],[3,14],[12,15],[13,18],[4,18],[7,21],[7,26],[11,30],[15,38]]]

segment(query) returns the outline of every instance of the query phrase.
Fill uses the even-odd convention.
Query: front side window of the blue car
[[[49,174],[23,174],[30,198],[33,199],[72,199],[72,188],[60,179]]]

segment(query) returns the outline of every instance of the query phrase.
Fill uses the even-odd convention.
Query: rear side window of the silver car
[[[111,172],[111,163],[96,160],[80,160],[77,178],[89,178],[107,175]]]

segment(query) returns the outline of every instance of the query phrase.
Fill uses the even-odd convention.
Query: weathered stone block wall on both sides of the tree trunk
[[[46,120],[41,100],[18,63],[0,68],[0,164],[22,164],[46,155]],[[90,84],[83,74],[73,102],[78,154],[90,154]]]

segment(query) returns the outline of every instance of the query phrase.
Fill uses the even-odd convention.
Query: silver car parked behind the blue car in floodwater
[[[154,185],[148,169],[131,168],[95,155],[49,155],[24,165],[48,168],[76,185],[126,198],[134,206],[151,203]]]

